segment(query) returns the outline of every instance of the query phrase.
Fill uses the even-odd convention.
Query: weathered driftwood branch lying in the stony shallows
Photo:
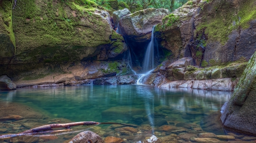
[[[49,124],[49,125],[42,125],[40,127],[28,129],[27,131],[16,133],[16,134],[10,134],[10,135],[0,135],[0,138],[10,138],[10,137],[16,137],[16,136],[25,136],[25,135],[37,135],[41,133],[56,133],[56,132],[65,132],[65,131],[71,131],[72,126],[76,125],[98,125],[98,124],[121,124],[126,125],[130,127],[138,127],[138,125],[133,124],[123,124],[123,123],[113,123],[113,122],[74,122],[74,123],[66,123],[66,124]],[[54,128],[65,128],[65,129],[59,129],[59,130],[53,130]]]

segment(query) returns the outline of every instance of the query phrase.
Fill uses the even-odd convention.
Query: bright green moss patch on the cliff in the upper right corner
[[[210,2],[210,1],[208,1]],[[219,41],[222,45],[228,41],[229,34],[238,28],[248,28],[249,21],[256,19],[256,10],[254,0],[240,1],[240,7],[232,7],[230,1],[214,2],[214,15],[207,14],[207,10],[203,10],[205,16],[202,18],[202,23],[196,27],[197,31],[205,31],[208,34],[208,40]]]

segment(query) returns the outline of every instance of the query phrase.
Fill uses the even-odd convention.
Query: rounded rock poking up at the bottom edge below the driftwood
[[[83,143],[83,142],[90,142],[90,143],[103,143],[103,140],[100,136],[92,131],[84,131],[76,135],[72,138],[69,143]]]

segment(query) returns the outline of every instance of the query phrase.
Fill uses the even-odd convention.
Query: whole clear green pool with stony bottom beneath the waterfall
[[[72,131],[0,139],[0,142],[69,142],[86,130],[104,142],[254,142],[256,137],[227,131],[219,122],[231,92],[163,89],[146,85],[90,85],[22,88],[0,92],[0,135],[40,125],[80,121],[137,125],[72,127]]]

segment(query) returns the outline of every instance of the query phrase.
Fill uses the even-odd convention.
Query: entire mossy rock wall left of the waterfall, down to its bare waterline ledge
[[[0,75],[20,87],[129,73],[122,60],[127,47],[110,15],[96,3],[84,2],[27,0],[12,10],[13,3],[3,1]]]

